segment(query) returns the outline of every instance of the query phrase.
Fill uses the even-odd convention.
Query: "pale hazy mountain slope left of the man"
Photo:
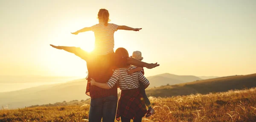
[[[0,93],[0,106],[9,108],[56,103],[60,101],[85,100],[87,80],[79,79],[67,83],[37,86],[33,88]]]

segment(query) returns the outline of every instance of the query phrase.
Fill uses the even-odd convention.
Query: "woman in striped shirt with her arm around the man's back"
[[[116,55],[120,57],[127,57],[128,51],[125,48],[116,49]],[[119,88],[122,90],[121,97],[118,102],[116,120],[119,121],[121,117],[122,122],[141,122],[142,117],[146,114],[146,107],[143,101],[143,95],[140,92],[139,82],[148,87],[149,81],[144,77],[141,72],[134,72],[128,75],[128,70],[135,69],[136,67],[131,65],[123,65],[113,72],[113,75],[107,83],[98,83],[94,79],[91,79],[92,86],[98,86],[102,89],[111,89],[119,83]]]

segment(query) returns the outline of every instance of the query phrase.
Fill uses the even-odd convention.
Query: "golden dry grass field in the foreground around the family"
[[[143,122],[256,122],[256,88],[150,99],[155,114]],[[73,104],[0,110],[0,122],[87,122],[88,109]]]

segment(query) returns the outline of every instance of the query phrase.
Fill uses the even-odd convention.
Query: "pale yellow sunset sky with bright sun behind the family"
[[[0,75],[86,76],[86,62],[49,46],[93,50],[100,8],[119,30],[115,49],[139,50],[145,76],[256,73],[255,0],[0,0]]]

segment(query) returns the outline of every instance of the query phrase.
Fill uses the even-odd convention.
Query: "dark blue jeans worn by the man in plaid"
[[[114,122],[117,97],[108,96],[90,101],[89,122]]]

